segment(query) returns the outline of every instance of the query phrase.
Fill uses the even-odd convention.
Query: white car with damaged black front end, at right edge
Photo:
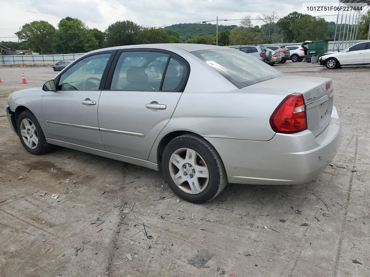
[[[359,42],[340,52],[325,53],[320,56],[319,63],[328,69],[341,65],[370,64],[370,41]]]

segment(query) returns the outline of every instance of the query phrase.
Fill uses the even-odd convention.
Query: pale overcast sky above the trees
[[[318,0],[304,0],[317,3]],[[339,3],[325,0],[325,3]],[[0,41],[17,41],[14,33],[23,24],[45,20],[57,27],[61,18],[77,17],[88,27],[104,31],[118,20],[132,20],[143,26],[160,27],[216,19],[255,18],[276,10],[279,17],[292,11],[302,13],[302,1],[297,0],[0,0]],[[337,12],[316,12],[336,21]],[[260,22],[253,21],[255,25]],[[215,22],[211,22],[215,23]],[[238,25],[238,20],[221,21],[223,25]]]

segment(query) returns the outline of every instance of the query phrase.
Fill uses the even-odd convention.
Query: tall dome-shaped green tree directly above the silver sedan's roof
[[[132,21],[117,21],[105,30],[105,41],[108,47],[132,45],[140,30],[141,27]]]

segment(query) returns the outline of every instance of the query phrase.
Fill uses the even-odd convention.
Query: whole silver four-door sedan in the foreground
[[[148,69],[164,56],[163,72]],[[103,72],[80,70],[102,58]],[[141,62],[121,70],[130,58]],[[58,145],[161,170],[175,194],[193,203],[210,201],[228,182],[309,182],[342,137],[332,79],[286,76],[213,45],[92,51],[42,88],[13,92],[6,109],[29,153]]]

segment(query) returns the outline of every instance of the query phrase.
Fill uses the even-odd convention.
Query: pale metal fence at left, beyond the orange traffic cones
[[[80,54],[58,54],[58,55],[13,55],[1,56],[0,64],[31,64],[31,63],[57,63],[60,61],[74,61],[84,53]],[[41,65],[43,66],[43,65]]]

